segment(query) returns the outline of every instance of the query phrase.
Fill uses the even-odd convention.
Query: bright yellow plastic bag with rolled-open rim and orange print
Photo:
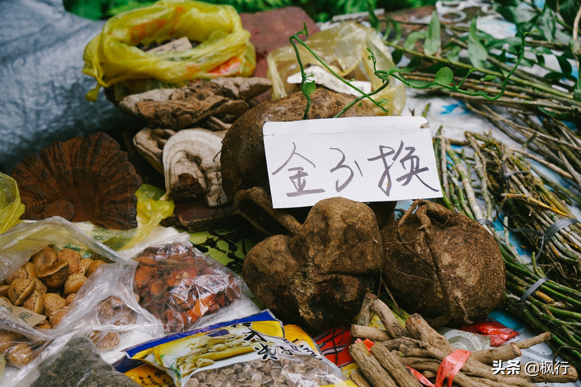
[[[135,47],[181,37],[200,44],[178,52],[146,53]],[[141,92],[144,79],[181,87],[197,78],[249,77],[256,67],[249,39],[250,32],[229,5],[160,0],[121,13],[107,20],[85,47],[83,73],[97,81],[86,97],[96,100],[101,86],[121,82],[130,92]]]

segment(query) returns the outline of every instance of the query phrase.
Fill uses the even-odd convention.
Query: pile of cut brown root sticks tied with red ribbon
[[[358,366],[358,370],[352,372],[350,378],[359,387],[429,386],[433,385],[429,379],[436,375],[435,382],[438,385],[447,377],[448,385],[456,382],[461,387],[532,387],[533,383],[566,383],[578,379],[578,373],[571,366],[561,366],[557,374],[539,374],[535,377],[527,376],[524,371],[520,375],[493,372],[489,366],[493,361],[507,361],[521,356],[521,349],[548,340],[548,334],[470,352],[455,348],[419,314],[409,316],[403,327],[395,320],[385,303],[373,295],[368,295],[366,299],[370,302],[363,303],[361,315],[376,313],[386,330],[353,325],[357,327],[354,331],[360,332],[353,337],[366,339],[365,342],[356,342],[349,347],[349,352]],[[376,342],[370,341],[368,337],[373,337]],[[419,371],[424,372],[422,374]]]

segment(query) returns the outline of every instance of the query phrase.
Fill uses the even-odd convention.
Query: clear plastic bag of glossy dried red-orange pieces
[[[149,247],[134,259],[139,304],[168,333],[191,330],[241,298],[241,278],[187,243]]]

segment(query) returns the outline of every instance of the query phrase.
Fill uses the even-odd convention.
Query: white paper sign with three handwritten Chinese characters
[[[442,197],[423,117],[267,122],[263,135],[274,208]]]

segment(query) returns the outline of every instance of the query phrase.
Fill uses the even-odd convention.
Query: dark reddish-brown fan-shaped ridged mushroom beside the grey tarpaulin
[[[59,215],[73,222],[90,220],[106,229],[137,227],[137,197],[141,177],[119,144],[103,132],[55,142],[23,158],[12,169],[22,219]]]

